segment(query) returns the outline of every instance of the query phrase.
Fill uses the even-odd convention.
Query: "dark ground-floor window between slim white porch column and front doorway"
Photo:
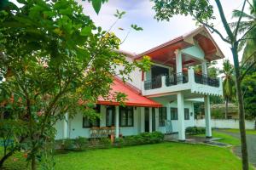
[[[133,127],[133,107],[119,108],[119,126]]]

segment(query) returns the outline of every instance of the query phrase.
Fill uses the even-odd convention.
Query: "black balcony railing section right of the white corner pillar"
[[[208,86],[216,88],[219,87],[218,78],[207,77],[207,75],[204,74],[201,75],[195,73],[195,82],[199,84],[207,84]]]

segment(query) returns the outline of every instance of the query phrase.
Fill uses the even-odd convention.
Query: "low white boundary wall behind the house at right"
[[[236,119],[212,119],[212,128],[239,128],[239,120]],[[206,127],[205,119],[195,120],[196,127]],[[254,121],[246,121],[247,129],[254,129],[255,122]]]

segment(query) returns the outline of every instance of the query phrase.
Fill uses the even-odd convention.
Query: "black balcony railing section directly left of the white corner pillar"
[[[189,82],[188,73],[186,72],[179,72],[177,74],[172,74],[166,77],[166,86],[173,86],[177,84],[182,84]]]

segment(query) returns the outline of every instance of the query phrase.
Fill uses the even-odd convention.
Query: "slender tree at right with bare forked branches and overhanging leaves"
[[[240,14],[235,29],[231,29],[229,22],[227,21],[224,15],[224,9],[222,7],[222,3],[219,0],[215,0],[214,2],[218,8],[218,14],[224,26],[224,31],[227,34],[227,38],[224,36],[224,32],[218,31],[216,27],[211,23],[211,20],[216,19],[213,14],[213,6],[208,0],[152,0],[154,2],[154,10],[156,12],[155,18],[157,20],[170,20],[174,14],[183,14],[183,15],[191,15],[194,20],[197,21],[198,24],[202,26],[206,26],[207,29],[211,32],[215,32],[224,42],[230,44],[230,49],[233,55],[234,68],[235,68],[235,77],[236,77],[236,98],[239,106],[239,125],[240,125],[240,134],[241,134],[241,158],[242,158],[242,169],[248,169],[248,156],[247,156],[247,143],[246,143],[246,131],[245,131],[245,111],[244,111],[244,103],[242,99],[242,91],[241,91],[241,81],[245,73],[241,73],[241,64],[238,59],[238,47],[241,41],[244,38],[253,38],[247,37],[247,33],[252,31],[256,24],[250,26],[246,29],[242,35],[239,34],[239,28],[241,28],[241,17]],[[241,12],[244,11],[245,5],[248,1],[244,0],[242,3]],[[256,61],[253,62],[248,70],[256,64]]]

